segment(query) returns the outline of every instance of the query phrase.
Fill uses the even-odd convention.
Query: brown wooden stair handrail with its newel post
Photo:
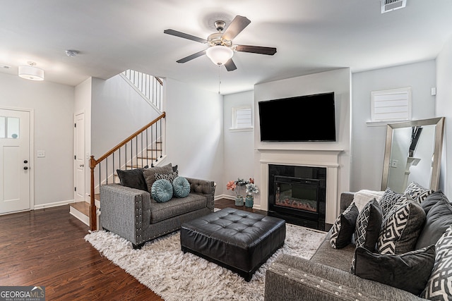
[[[133,133],[132,135],[127,137],[124,141],[119,143],[119,145],[117,145],[116,147],[113,147],[107,153],[105,153],[104,155],[100,156],[99,159],[96,160],[94,158],[94,156],[90,157],[90,169],[91,169],[91,171],[90,171],[90,176],[91,176],[91,180],[90,180],[90,185],[91,185],[90,186],[90,230],[91,231],[97,230],[97,219],[96,219],[97,215],[96,215],[96,205],[95,205],[95,197],[94,197],[94,194],[95,194],[94,169],[95,169],[95,167],[97,166],[97,164],[100,164],[100,162],[102,162],[103,160],[107,159],[108,156],[111,156],[118,149],[120,149],[121,147],[126,145],[127,142],[130,142],[133,138],[135,138],[138,135],[140,135],[141,133],[143,133],[143,131],[145,131],[147,128],[150,128],[150,126],[152,126],[155,123],[157,123],[157,121],[160,121],[160,119],[165,118],[165,116],[166,116],[166,113],[163,112],[162,115],[158,116],[153,121],[151,121],[147,125],[143,126],[143,128],[137,130],[135,133]]]

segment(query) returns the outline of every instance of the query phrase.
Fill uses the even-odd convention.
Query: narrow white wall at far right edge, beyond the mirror
[[[436,116],[446,117],[439,188],[452,199],[452,38],[436,58]]]

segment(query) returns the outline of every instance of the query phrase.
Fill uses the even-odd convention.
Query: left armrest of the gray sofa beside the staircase
[[[150,193],[119,184],[100,186],[100,226],[133,244],[142,240],[143,212],[150,206]]]

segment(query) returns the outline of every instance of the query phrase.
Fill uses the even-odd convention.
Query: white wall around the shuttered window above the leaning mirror
[[[352,74],[352,191],[381,190],[386,125],[367,125],[371,91],[412,87],[412,119],[426,119],[435,117],[435,86],[434,60]]]

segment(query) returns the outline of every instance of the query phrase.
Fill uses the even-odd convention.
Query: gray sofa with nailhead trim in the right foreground
[[[352,200],[352,192],[341,195],[341,212]],[[333,249],[330,234],[310,260],[283,254],[273,262],[266,271],[265,300],[424,300],[350,274],[355,245]]]

